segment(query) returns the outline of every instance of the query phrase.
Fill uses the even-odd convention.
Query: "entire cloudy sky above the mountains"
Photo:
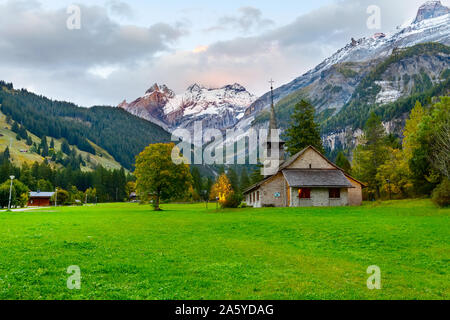
[[[442,1],[449,5],[450,0]],[[0,0],[0,79],[82,106],[153,83],[282,85],[337,49],[415,16],[425,0]],[[72,6],[80,9],[80,28]],[[379,30],[367,9],[381,9]]]

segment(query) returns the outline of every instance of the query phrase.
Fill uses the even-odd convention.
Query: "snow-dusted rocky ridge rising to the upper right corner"
[[[384,34],[376,33],[370,37],[354,40],[344,48],[338,50],[331,57],[325,59],[314,69],[308,71],[292,82],[277,88],[274,91],[275,101],[279,101],[287,95],[303,88],[320,85],[324,74],[332,71],[332,68],[345,63],[351,63],[351,67],[370,68],[370,63],[374,60],[381,60],[390,56],[393,51],[399,48],[411,47],[419,43],[439,42],[450,44],[450,14],[449,8],[443,6],[440,1],[428,1],[419,8],[413,23],[398,27],[395,31]],[[358,83],[360,79],[356,79]],[[338,99],[332,99],[323,104],[330,105],[335,112],[339,112],[342,106],[350,99],[355,86],[343,85],[343,94]],[[309,91],[309,90],[308,90]],[[314,92],[314,90],[312,90]],[[313,97],[309,97],[314,100]],[[247,121],[247,117],[253,117],[261,110],[270,106],[270,92],[256,100],[245,112],[242,121]],[[321,108],[322,106],[318,106]]]

